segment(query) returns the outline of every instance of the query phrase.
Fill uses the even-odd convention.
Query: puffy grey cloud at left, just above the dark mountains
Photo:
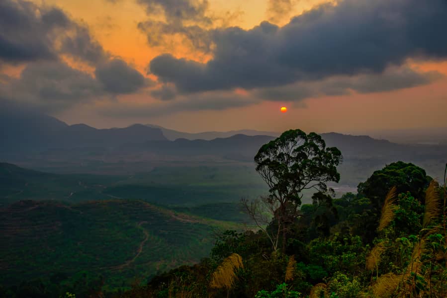
[[[30,63],[18,78],[6,78],[3,83],[0,80],[0,96],[54,113],[104,96],[133,93],[153,83],[119,59],[98,66],[95,76],[62,61]]]

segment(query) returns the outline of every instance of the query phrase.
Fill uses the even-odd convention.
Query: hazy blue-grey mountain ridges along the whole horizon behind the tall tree
[[[85,124],[67,125],[54,117],[37,113],[14,111],[0,111],[0,128],[3,141],[0,158],[22,165],[31,154],[33,162],[55,157],[62,162],[84,162],[91,157],[104,163],[105,158],[120,162],[134,160],[135,156],[141,156],[141,161],[190,161],[191,156],[207,156],[207,160],[223,158],[252,162],[259,148],[277,136],[253,130],[243,132],[256,135],[234,132],[189,134],[141,124],[96,129]],[[222,137],[206,140],[216,135]],[[182,138],[177,138],[180,136]],[[401,145],[368,136],[339,133],[323,133],[321,136],[328,147],[339,148],[345,159],[426,160],[446,156],[445,146]],[[39,152],[46,155],[36,155]]]

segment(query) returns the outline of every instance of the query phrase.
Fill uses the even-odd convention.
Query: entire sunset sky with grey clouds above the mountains
[[[446,0],[1,0],[0,108],[186,132],[447,127],[445,28]]]

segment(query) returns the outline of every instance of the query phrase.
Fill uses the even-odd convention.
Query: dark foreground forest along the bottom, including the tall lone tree
[[[130,289],[114,292],[104,291],[101,275],[84,272],[70,283],[57,274],[30,277],[2,286],[0,296],[447,297],[447,164],[441,180],[396,161],[357,193],[336,197],[328,183],[339,182],[343,155],[315,133],[286,131],[254,159],[268,193],[242,198],[250,224],[217,234],[198,263],[148,282],[135,277]],[[308,190],[312,202],[303,204]]]

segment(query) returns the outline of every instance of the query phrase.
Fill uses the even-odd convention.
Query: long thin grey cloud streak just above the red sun
[[[247,107],[263,101],[288,101],[295,107],[306,107],[306,98],[341,96],[353,93],[372,93],[391,91],[400,88],[416,87],[442,77],[436,72],[417,72],[408,67],[391,67],[383,74],[361,74],[355,76],[334,76],[319,81],[295,82],[282,86],[255,88],[250,92],[207,91],[199,93],[176,94],[176,100],[149,102],[114,101],[97,108],[97,113],[114,118],[159,117],[178,112],[225,110]],[[168,91],[166,91],[168,90]],[[171,85],[152,91],[175,92]]]

